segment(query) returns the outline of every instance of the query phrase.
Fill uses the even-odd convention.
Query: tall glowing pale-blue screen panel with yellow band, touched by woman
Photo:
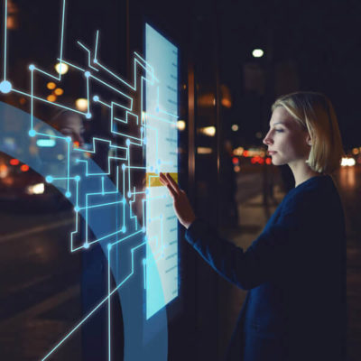
[[[174,300],[179,292],[178,220],[159,171],[178,181],[178,49],[145,25],[145,59],[152,64],[157,87],[146,85],[146,318]],[[153,255],[153,257],[151,256]],[[158,275],[159,274],[159,275]],[[155,282],[156,279],[161,282]]]

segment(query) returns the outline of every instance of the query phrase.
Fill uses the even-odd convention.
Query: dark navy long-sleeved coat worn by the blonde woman
[[[218,273],[250,290],[227,360],[346,359],[346,235],[329,175],[292,189],[244,251],[197,219],[186,239]]]

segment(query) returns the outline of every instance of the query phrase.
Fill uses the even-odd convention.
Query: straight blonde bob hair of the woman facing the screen
[[[282,106],[307,130],[311,138],[309,159],[313,171],[331,174],[344,156],[338,119],[329,98],[321,93],[299,91],[279,97],[272,111]]]

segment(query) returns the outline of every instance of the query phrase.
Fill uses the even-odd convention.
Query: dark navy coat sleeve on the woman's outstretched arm
[[[237,287],[249,290],[274,281],[287,272],[287,264],[302,247],[309,219],[295,209],[286,211],[246,251],[218,236],[206,222],[196,219],[186,232],[187,241],[220,275]],[[309,225],[310,226],[310,222]]]

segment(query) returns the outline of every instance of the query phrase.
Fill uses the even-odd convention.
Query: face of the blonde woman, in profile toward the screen
[[[282,106],[273,110],[264,144],[274,165],[304,162],[310,153],[309,133]]]

